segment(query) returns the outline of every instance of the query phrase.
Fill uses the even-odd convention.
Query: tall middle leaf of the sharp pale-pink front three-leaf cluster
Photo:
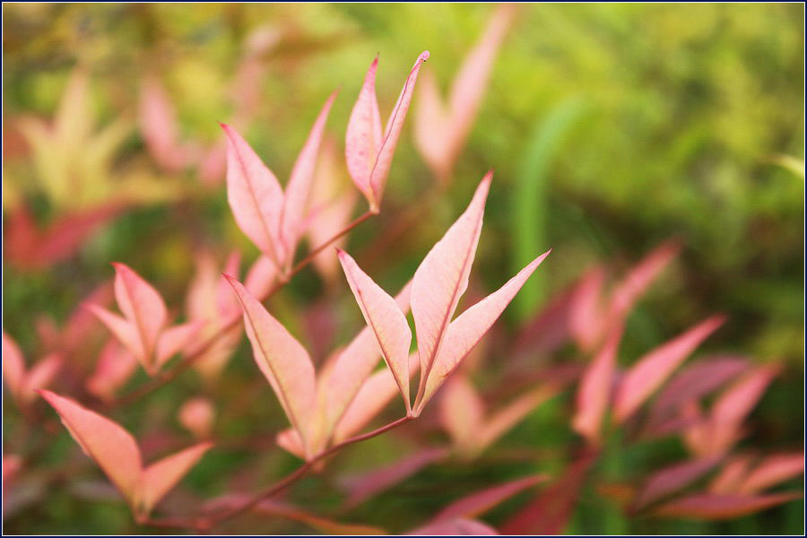
[[[418,335],[421,388],[438,357],[440,342],[456,305],[468,287],[468,274],[482,231],[482,216],[492,177],[492,172],[488,172],[482,178],[465,213],[431,248],[412,279],[412,317]]]

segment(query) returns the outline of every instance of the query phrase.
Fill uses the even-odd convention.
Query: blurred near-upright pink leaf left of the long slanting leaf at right
[[[612,334],[586,369],[577,389],[577,413],[572,427],[594,445],[600,442],[603,417],[611,399],[616,353],[621,338],[622,326],[619,325],[612,329]]]

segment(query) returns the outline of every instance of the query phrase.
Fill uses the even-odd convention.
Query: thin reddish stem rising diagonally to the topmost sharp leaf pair
[[[264,301],[272,297],[274,293],[281,290],[283,286],[289,283],[292,276],[299,273],[300,271],[305,269],[311,262],[313,262],[314,258],[316,258],[323,250],[325,250],[325,248],[333,245],[334,241],[343,237],[345,234],[347,234],[348,232],[359,226],[362,222],[367,221],[374,214],[376,213],[368,211],[360,215],[360,217],[356,218],[354,221],[348,224],[345,228],[343,228],[343,230],[336,233],[334,237],[326,240],[322,245],[312,250],[308,254],[308,256],[304,257],[302,260],[299,261],[297,265],[294,265],[294,267],[291,268],[291,271],[288,274],[286,274],[284,280],[276,282],[275,285],[272,287],[272,289],[266,293],[265,297],[259,299],[261,301]],[[179,374],[192,367],[197,360],[201,359],[204,356],[205,352],[207,352],[208,350],[210,350],[211,347],[213,347],[213,344],[217,343],[221,339],[221,337],[224,336],[224,334],[230,332],[230,330],[236,325],[239,325],[239,323],[241,323],[241,317],[240,316],[233,317],[225,325],[222,325],[218,331],[211,334],[207,338],[207,340],[205,340],[204,343],[199,348],[197,348],[193,353],[186,355],[186,357],[173,369],[166,370],[164,372],[161,372],[157,376],[152,377],[152,380],[149,381],[148,383],[139,386],[138,388],[135,388],[132,392],[130,392],[127,395],[123,395],[120,398],[117,398],[117,400],[113,400],[108,404],[105,404],[105,407],[113,408],[122,405],[132,404],[133,402],[142,398],[144,395],[148,395],[153,391],[157,390],[158,388],[168,385],[171,381],[177,378]]]

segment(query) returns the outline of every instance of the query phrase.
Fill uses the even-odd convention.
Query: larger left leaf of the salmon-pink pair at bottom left
[[[52,405],[84,453],[100,465],[132,508],[142,469],[134,438],[116,422],[84,409],[73,400],[48,390],[39,394]]]

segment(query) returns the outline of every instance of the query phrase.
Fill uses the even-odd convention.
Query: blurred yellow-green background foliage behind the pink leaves
[[[341,146],[373,56],[380,55],[377,95],[386,117],[405,70],[423,49],[430,50],[427,65],[447,87],[491,9],[490,4],[4,4],[4,221],[20,200],[45,226],[80,198],[112,196],[121,184],[141,195],[134,208],[91,234],[68,259],[24,270],[6,260],[4,330],[33,356],[36,319],[43,313],[64,319],[111,277],[109,261],[131,265],[178,309],[196,249],[212,247],[223,256],[239,247],[247,258],[256,256],[232,220],[221,185],[203,187],[190,169],[167,174],[145,152],[136,117],[146,75],[156,76],[169,92],[182,136],[215,143],[221,139],[216,121],[227,121],[238,105],[239,96],[230,95],[239,60],[248,48],[260,48],[263,71],[253,88],[259,99],[244,134],[277,176],[286,178],[317,109],[334,88],[341,91],[327,128]],[[629,319],[625,356],[635,357],[699,319],[725,312],[729,322],[707,349],[785,363],[754,415],[760,425],[753,442],[799,446],[803,9],[802,4],[522,5],[449,192],[389,256],[374,258],[370,272],[387,290],[403,284],[489,168],[496,175],[475,285],[495,289],[525,257],[554,248],[506,313],[509,327],[532,317],[594,263],[606,262],[621,274],[664,239],[678,238],[681,256]],[[114,140],[107,154],[100,151],[93,161],[92,174],[99,179],[54,195],[42,187],[44,172],[32,164],[37,148],[21,126],[30,118],[49,125],[75,67],[88,76],[93,119],[75,117],[70,125],[86,137],[114,129],[108,134]],[[419,204],[434,182],[414,150],[412,118],[382,214],[353,232],[351,251],[361,254],[396,214]],[[74,142],[65,159],[93,159],[89,143],[75,138],[82,133],[65,134]],[[801,176],[777,163],[782,155],[801,161]],[[87,179],[86,167],[76,170]],[[325,290],[308,270],[273,299],[273,312],[292,333],[303,334],[296,311],[316,303]],[[338,301],[335,340],[343,342],[359,326],[359,312],[346,286],[327,292]],[[579,359],[568,353],[568,360]],[[490,359],[495,360],[507,357]],[[244,380],[255,377],[246,347],[225,374],[232,378],[224,383],[225,395],[238,394]],[[124,423],[141,431],[153,423],[168,428],[181,395],[195,390],[191,375],[183,379],[147,404],[134,405]],[[256,382],[249,393],[254,408],[242,405],[242,414],[222,418],[224,430],[253,431],[250,421],[256,417],[261,431],[282,427],[273,396],[262,379]],[[560,412],[567,405],[553,401],[540,408],[501,444],[537,447],[546,458],[532,465],[554,469],[570,442]],[[132,422],[144,409],[147,418]],[[13,411],[5,414],[4,437],[15,420]],[[401,450],[393,445],[392,439],[378,438],[347,457],[381,463]],[[639,473],[641,464],[663,462],[659,455],[675,449],[646,450],[622,454],[612,472],[621,478]],[[266,452],[276,454],[264,456],[260,475],[293,467],[279,449]],[[225,490],[231,481],[222,475],[244,473],[240,456],[212,452],[192,473],[191,485],[202,493]],[[388,519],[395,522],[389,528],[402,530],[406,521],[421,520],[444,503],[438,499],[443,492],[435,490],[440,480],[471,490],[490,477],[512,476],[514,469],[517,465],[500,463],[484,473],[463,465],[440,467],[372,499],[351,518],[382,525]],[[82,502],[66,492],[52,499],[15,518],[13,527],[7,522],[6,530],[89,532],[87,525],[100,533],[132,530],[129,517],[118,513],[123,508]],[[584,495],[570,531],[604,532],[594,515],[605,508],[596,502],[603,501]],[[624,533],[801,533],[799,504],[719,525],[606,519],[613,532]],[[490,519],[494,524],[497,514]],[[267,525],[266,532],[294,528]]]

